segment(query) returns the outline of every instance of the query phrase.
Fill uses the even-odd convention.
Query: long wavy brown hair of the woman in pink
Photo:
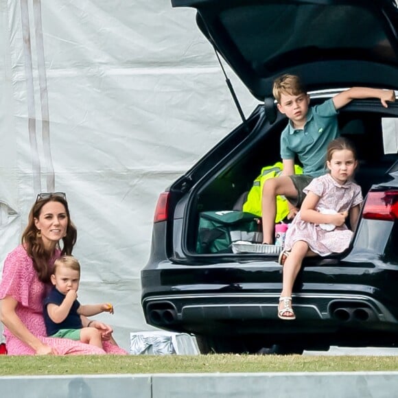
[[[78,231],[73,225],[73,222],[71,222],[67,200],[55,194],[50,194],[45,199],[38,197],[30,210],[27,226],[25,231],[23,231],[21,242],[27,254],[33,259],[33,266],[38,274],[38,279],[44,283],[49,283],[50,281],[51,271],[49,268],[49,261],[51,257],[54,257],[54,253],[49,253],[45,250],[43,240],[41,237],[37,236],[38,229],[35,225],[35,219],[39,218],[43,206],[48,202],[60,202],[65,207],[65,213],[67,213],[67,235],[62,237],[62,248],[60,248],[59,242],[57,245],[57,247],[61,249],[61,255],[72,254],[73,246],[75,246],[78,237]]]

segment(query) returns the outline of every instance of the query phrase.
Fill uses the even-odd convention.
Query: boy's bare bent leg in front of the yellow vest
[[[296,187],[290,176],[281,176],[266,180],[261,198],[261,212],[263,223],[263,242],[274,243],[274,225],[277,215],[277,195],[296,198],[298,195]]]

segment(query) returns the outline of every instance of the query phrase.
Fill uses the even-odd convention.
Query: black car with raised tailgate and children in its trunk
[[[294,285],[296,320],[277,317],[277,255],[201,253],[204,211],[239,209],[261,167],[280,160],[287,119],[272,82],[301,76],[311,104],[351,86],[398,89],[393,0],[172,0],[260,101],[249,117],[159,197],[150,259],[141,272],[148,324],[194,333],[202,353],[276,352],[398,343],[398,103],[342,108],[342,136],[358,149],[364,205],[346,252],[305,259]],[[231,89],[231,87],[230,87]],[[211,93],[209,93],[211,95]],[[236,99],[235,99],[236,100]],[[236,101],[237,105],[239,103]]]

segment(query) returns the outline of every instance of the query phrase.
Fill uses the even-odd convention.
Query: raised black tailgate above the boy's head
[[[196,23],[257,99],[281,73],[309,91],[398,89],[395,0],[172,0]]]

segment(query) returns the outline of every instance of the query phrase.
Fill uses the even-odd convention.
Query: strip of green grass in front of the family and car
[[[0,355],[0,376],[121,373],[397,371],[397,356]]]

